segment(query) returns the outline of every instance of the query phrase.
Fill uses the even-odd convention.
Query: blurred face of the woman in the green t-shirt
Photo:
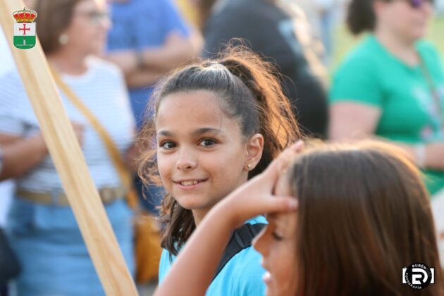
[[[432,8],[428,0],[378,1],[378,25],[381,30],[389,30],[407,42],[414,42],[426,35]]]

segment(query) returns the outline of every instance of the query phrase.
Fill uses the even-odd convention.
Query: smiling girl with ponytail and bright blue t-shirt
[[[244,49],[173,73],[159,86],[154,109],[142,140],[155,137],[156,149],[144,156],[140,175],[147,182],[158,171],[167,192],[161,282],[211,207],[300,135],[273,69]],[[258,216],[248,223],[266,221]],[[208,293],[260,295],[263,273],[259,254],[246,247],[223,266]]]

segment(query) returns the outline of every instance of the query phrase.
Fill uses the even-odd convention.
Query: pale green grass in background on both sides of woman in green
[[[435,44],[441,56],[444,58],[444,16],[434,18],[428,31],[427,39]],[[335,51],[333,53],[331,70],[338,66],[338,63],[342,61],[347,51],[349,51],[360,38],[361,37],[353,37],[350,35],[345,25],[340,25],[340,27],[335,30]]]

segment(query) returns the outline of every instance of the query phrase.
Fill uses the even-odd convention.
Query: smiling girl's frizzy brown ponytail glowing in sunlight
[[[249,174],[254,177],[265,170],[280,152],[301,138],[290,101],[280,87],[278,71],[271,63],[262,61],[246,47],[228,47],[220,63],[240,78],[252,92],[259,111],[259,133],[264,136],[261,161]]]

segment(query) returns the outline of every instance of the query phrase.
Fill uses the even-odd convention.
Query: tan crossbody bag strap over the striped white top
[[[61,80],[60,75],[51,68],[52,75],[54,77],[54,80],[56,81],[56,84],[60,88],[60,90],[68,97],[70,102],[87,118],[87,120],[91,123],[92,128],[97,132],[99,135],[101,141],[104,143],[106,151],[108,152],[111,161],[113,162],[113,165],[116,167],[116,170],[118,172],[119,177],[122,180],[123,185],[125,186],[126,190],[128,190],[128,205],[130,205],[132,208],[137,207],[137,194],[135,193],[135,190],[132,190],[132,176],[130,172],[128,171],[128,168],[125,166],[125,162],[123,161],[123,158],[118,151],[118,148],[116,144],[113,142],[111,136],[109,133],[105,130],[104,126],[101,125],[99,120],[96,116],[88,109],[88,107],[83,104],[82,100],[78,97],[71,88],[66,85],[63,80]]]

